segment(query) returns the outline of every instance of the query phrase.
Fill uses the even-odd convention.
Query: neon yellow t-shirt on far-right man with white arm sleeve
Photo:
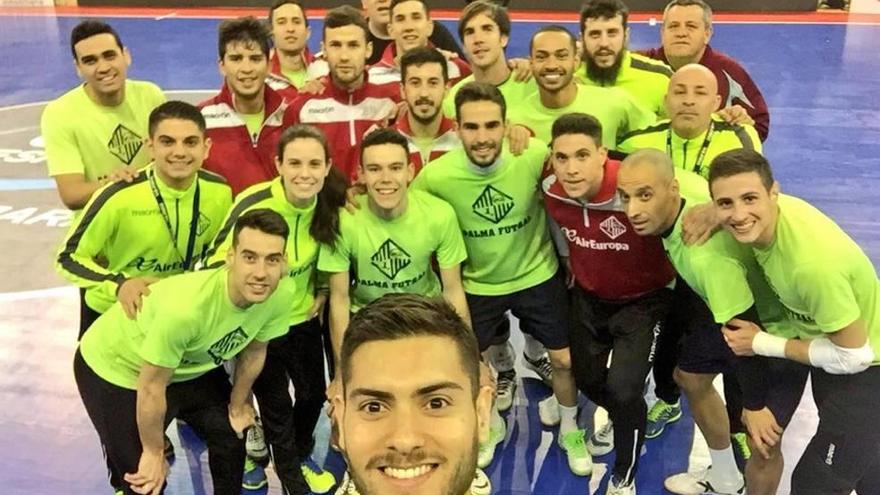
[[[877,272],[833,220],[799,198],[780,195],[773,242],[754,252],[798,336],[817,338],[862,319],[874,364],[880,364]]]

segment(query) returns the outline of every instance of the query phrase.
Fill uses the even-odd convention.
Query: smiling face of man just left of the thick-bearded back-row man
[[[556,93],[572,84],[577,54],[571,36],[556,31],[532,38],[532,75],[543,91]]]

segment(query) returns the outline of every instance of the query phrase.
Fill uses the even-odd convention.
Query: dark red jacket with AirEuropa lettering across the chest
[[[552,173],[541,183],[547,213],[558,227],[554,240],[568,256],[575,282],[608,301],[634,299],[675,279],[660,238],[642,237],[630,225],[617,195],[619,167],[605,162],[602,186],[587,204],[569,197]]]

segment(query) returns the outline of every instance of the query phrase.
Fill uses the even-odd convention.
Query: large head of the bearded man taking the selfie
[[[357,493],[471,493],[492,402],[479,359],[473,331],[441,299],[388,294],[352,318],[333,402]]]

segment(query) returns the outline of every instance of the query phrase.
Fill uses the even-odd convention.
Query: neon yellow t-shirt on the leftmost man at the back
[[[132,80],[116,107],[92,101],[84,85],[52,101],[40,119],[49,175],[83,174],[93,182],[122,166],[146,166],[150,112],[164,102],[158,86]]]

